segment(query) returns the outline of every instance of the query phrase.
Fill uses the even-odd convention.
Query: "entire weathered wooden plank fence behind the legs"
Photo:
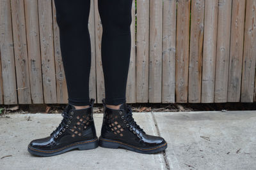
[[[91,0],[90,97],[101,103],[102,25]],[[137,0],[127,103],[255,102],[256,0]],[[52,0],[0,0],[0,104],[67,103]]]

